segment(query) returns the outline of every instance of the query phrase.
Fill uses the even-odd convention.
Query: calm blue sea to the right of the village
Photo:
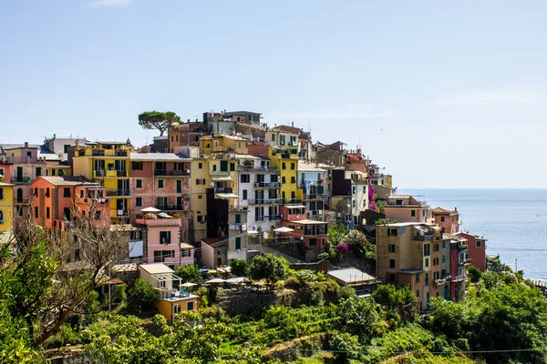
[[[458,207],[461,230],[487,238],[486,254],[500,255],[525,278],[547,280],[547,189],[398,188],[431,208]]]

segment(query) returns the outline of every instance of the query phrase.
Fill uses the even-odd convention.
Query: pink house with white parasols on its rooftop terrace
[[[149,263],[164,263],[171,269],[193,264],[194,248],[181,241],[181,218],[147,213],[136,218],[135,223],[146,229],[145,247]]]

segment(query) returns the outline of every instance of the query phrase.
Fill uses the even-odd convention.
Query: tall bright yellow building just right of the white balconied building
[[[270,147],[270,166],[279,169],[281,198],[285,204],[302,203],[303,191],[298,188],[298,148]]]

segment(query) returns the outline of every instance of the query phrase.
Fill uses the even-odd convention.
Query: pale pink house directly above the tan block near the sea
[[[383,210],[386,218],[397,222],[432,223],[429,205],[410,195],[390,195]]]

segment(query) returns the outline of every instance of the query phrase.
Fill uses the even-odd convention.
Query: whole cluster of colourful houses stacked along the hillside
[[[41,146],[1,144],[4,239],[17,217],[63,231],[93,210],[98,225],[128,232],[113,272],[162,263],[172,273],[228,268],[266,249],[296,266],[317,262],[328,227],[340,225],[376,245],[376,267],[362,273],[410,285],[420,309],[429,297],[458,300],[466,266],[486,268],[486,239],[459,230],[457,208],[398,195],[359,146],[314,142],[294,123],[268,126],[249,111],[206,112],[166,131],[144,147],[55,135]]]

